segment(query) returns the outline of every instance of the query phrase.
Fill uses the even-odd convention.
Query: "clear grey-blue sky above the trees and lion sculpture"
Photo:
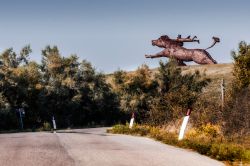
[[[39,61],[46,45],[57,45],[63,56],[77,54],[109,73],[158,66],[160,59],[144,58],[161,51],[151,40],[182,34],[201,41],[188,48],[220,37],[209,53],[229,63],[238,43],[250,42],[249,6],[249,0],[0,0],[0,52],[30,44],[30,59]]]

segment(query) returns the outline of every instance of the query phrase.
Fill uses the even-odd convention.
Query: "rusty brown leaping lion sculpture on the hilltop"
[[[178,65],[186,65],[184,62],[194,61],[198,64],[216,64],[217,62],[211,57],[211,55],[206,51],[209,48],[212,48],[216,43],[220,42],[220,39],[213,37],[213,44],[206,49],[187,49],[184,48],[184,42],[197,42],[197,37],[190,36],[186,38],[181,38],[181,35],[178,35],[176,39],[170,39],[167,35],[161,36],[156,40],[152,40],[153,46],[158,46],[160,48],[165,48],[163,51],[155,55],[145,55],[146,58],[159,58],[159,57],[168,57],[174,58],[177,60]]]

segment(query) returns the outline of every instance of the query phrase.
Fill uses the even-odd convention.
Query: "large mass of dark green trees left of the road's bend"
[[[55,46],[42,50],[40,64],[29,61],[30,53],[26,46],[19,54],[10,48],[0,55],[0,130],[20,128],[19,108],[24,129],[49,130],[53,116],[58,128],[122,120],[117,95],[90,62],[63,57]]]

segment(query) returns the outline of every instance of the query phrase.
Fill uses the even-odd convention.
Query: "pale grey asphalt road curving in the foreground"
[[[221,162],[106,128],[0,134],[0,166],[219,166]]]

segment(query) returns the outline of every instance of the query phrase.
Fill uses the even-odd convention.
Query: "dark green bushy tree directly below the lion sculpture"
[[[158,81],[158,94],[149,112],[149,120],[154,125],[182,117],[210,82],[210,79],[202,78],[198,71],[183,75],[174,60],[168,63],[161,61],[155,78]]]

